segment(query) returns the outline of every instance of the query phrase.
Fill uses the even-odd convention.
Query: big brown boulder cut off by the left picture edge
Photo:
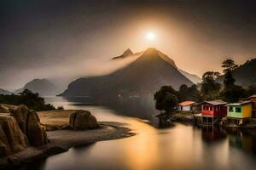
[[[26,135],[13,116],[0,116],[0,157],[24,150],[28,144]]]

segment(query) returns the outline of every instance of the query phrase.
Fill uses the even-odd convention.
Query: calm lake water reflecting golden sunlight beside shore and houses
[[[227,133],[222,129],[201,129],[179,123],[160,129],[143,119],[132,118],[129,106],[116,111],[91,105],[85,100],[70,102],[59,98],[47,101],[63,105],[65,109],[89,110],[99,121],[129,123],[137,135],[73,148],[29,165],[28,169],[256,169],[256,138],[251,134]],[[143,112],[141,115],[146,115],[156,125],[151,116],[154,113],[147,116]]]

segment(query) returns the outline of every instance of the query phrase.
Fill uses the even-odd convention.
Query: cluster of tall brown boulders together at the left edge
[[[47,144],[45,127],[35,111],[30,111],[26,105],[8,109],[10,113],[0,114],[0,157],[24,150],[28,144]]]

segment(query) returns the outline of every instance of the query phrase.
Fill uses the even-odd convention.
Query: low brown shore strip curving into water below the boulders
[[[47,132],[49,144],[41,147],[29,146],[25,150],[5,157],[0,169],[19,167],[38,159],[65,152],[74,146],[95,143],[102,140],[123,139],[133,136],[131,129],[118,122],[99,122],[100,127],[91,130],[55,130]],[[0,159],[1,160],[1,159]],[[2,163],[2,165],[1,165]]]

